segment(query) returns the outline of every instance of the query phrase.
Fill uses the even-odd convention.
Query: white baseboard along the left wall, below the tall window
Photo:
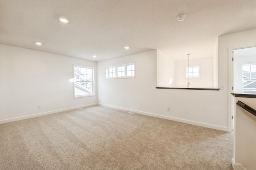
[[[20,121],[20,120],[23,120],[23,119],[29,119],[29,118],[39,117],[39,116],[43,116],[43,115],[50,115],[50,114],[53,114],[53,113],[70,111],[70,110],[74,110],[74,109],[78,109],[78,108],[82,108],[82,107],[94,106],[94,105],[97,105],[97,103],[92,103],[92,104],[89,104],[89,105],[76,106],[76,107],[70,107],[70,108],[66,108],[66,109],[60,109],[60,110],[49,111],[49,112],[44,112],[44,113],[36,113],[36,114],[33,114],[33,115],[27,115],[27,116],[22,116],[22,117],[15,117],[15,118],[11,118],[11,119],[5,119],[5,120],[1,120],[0,124],[14,122],[14,121]]]

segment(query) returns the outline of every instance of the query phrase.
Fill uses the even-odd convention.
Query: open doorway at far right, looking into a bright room
[[[256,45],[229,48],[229,94],[256,95]],[[234,130],[234,97],[229,95],[229,132]]]

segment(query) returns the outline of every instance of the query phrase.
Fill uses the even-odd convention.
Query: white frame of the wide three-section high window
[[[127,76],[127,66],[129,65],[134,65],[134,70],[131,70],[131,71],[134,71],[134,76]],[[118,67],[122,67],[124,66],[124,76],[118,76]],[[113,68],[115,67],[115,71],[116,71],[116,77],[109,77],[109,69],[110,68]],[[119,71],[119,72],[122,72]],[[110,65],[110,66],[106,66],[106,79],[129,79],[129,78],[136,78],[136,74],[135,74],[135,62],[134,63],[128,63],[128,64],[118,64],[118,65]],[[121,73],[122,74],[122,73]]]

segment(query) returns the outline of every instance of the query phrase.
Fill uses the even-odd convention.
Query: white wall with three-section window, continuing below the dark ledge
[[[156,55],[156,50],[152,50],[99,61],[98,103],[227,131],[228,109],[227,101],[223,99],[226,91],[156,89]],[[105,78],[106,66],[132,62],[136,62],[136,78]]]

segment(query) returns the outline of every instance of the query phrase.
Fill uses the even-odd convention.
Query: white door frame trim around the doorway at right
[[[256,43],[254,44],[248,44],[248,45],[241,45],[241,46],[236,46],[236,47],[228,47],[228,132],[232,132],[233,130],[233,123],[232,123],[232,111],[233,111],[233,106],[234,106],[234,101],[232,99],[231,93],[232,91],[232,86],[234,83],[234,66],[232,62],[232,51],[236,49],[242,49],[242,48],[250,48],[250,47],[256,47]]]

